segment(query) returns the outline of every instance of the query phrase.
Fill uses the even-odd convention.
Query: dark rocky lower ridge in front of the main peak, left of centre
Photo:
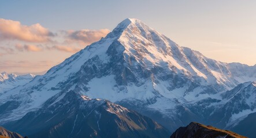
[[[90,99],[74,91],[54,102],[49,99],[42,109],[29,112],[12,127],[29,138],[65,137],[168,137],[169,131],[149,117],[113,104]]]

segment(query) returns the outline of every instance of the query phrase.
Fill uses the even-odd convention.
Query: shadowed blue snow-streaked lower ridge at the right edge
[[[222,99],[206,98],[188,106],[205,124],[255,137],[256,82],[242,83],[220,95]]]

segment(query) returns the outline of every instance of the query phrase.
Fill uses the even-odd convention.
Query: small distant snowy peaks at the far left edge
[[[0,73],[0,95],[17,87],[19,85],[25,85],[29,81],[31,81],[35,75],[27,74],[27,75],[16,75],[16,74],[7,74],[6,72]]]

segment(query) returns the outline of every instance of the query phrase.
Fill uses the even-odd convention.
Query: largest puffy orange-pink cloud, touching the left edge
[[[45,42],[50,41],[50,36],[54,36],[53,33],[40,24],[27,26],[18,21],[0,18],[0,39],[2,40]]]

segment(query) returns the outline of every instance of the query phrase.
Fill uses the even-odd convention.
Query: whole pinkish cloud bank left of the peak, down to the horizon
[[[109,32],[108,29],[53,32],[40,24],[23,25],[0,18],[0,71],[48,70]]]

